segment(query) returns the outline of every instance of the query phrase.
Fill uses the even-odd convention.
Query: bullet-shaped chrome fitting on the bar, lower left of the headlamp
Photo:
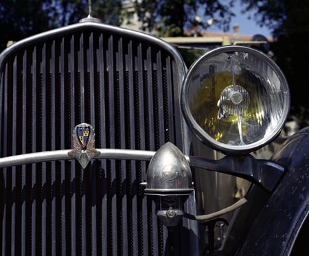
[[[156,203],[157,216],[165,226],[176,226],[184,215],[183,204],[194,191],[190,164],[171,142],[152,157],[144,193]]]

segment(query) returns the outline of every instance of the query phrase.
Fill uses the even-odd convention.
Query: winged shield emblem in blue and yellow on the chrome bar
[[[76,125],[72,134],[73,149],[69,156],[76,158],[83,169],[87,167],[91,159],[100,154],[95,149],[95,133],[93,127],[87,123]]]

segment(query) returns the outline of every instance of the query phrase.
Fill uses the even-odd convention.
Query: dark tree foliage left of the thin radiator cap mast
[[[0,2],[0,51],[8,41],[78,22],[85,17],[87,1],[2,0]]]

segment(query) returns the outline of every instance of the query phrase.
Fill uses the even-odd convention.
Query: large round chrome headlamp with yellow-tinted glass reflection
[[[224,46],[198,58],[185,76],[183,114],[194,134],[222,153],[249,153],[274,140],[290,109],[284,74],[268,56]]]

